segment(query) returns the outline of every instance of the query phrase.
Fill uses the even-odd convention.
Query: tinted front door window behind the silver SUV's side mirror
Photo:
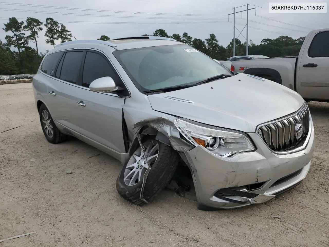
[[[89,88],[90,83],[101,77],[110,76],[117,83],[117,78],[107,59],[95,52],[87,52],[82,74],[82,86]]]

